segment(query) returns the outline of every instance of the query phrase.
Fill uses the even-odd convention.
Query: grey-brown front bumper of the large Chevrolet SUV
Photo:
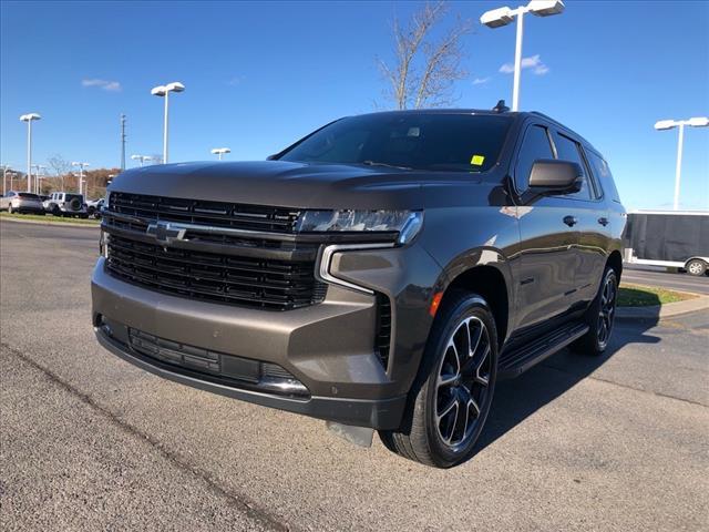
[[[402,268],[403,264],[410,266]],[[422,285],[438,277],[438,266],[415,245],[348,252],[335,257],[332,265],[343,278],[392,301],[392,349],[387,368],[374,349],[376,295],[331,285],[326,299],[310,307],[288,311],[233,307],[120,280],[106,273],[103,257],[92,278],[96,337],[121,358],[192,387],[343,424],[395,429],[430,326],[429,294]],[[121,335],[106,335],[100,327],[103,319],[126,330],[278,365],[305,385],[307,397],[248,389],[147,357],[130,341],[120,341]]]

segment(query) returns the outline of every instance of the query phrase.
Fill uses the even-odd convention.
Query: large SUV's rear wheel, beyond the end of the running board
[[[585,355],[599,356],[608,347],[613,334],[618,300],[618,276],[606,266],[596,298],[586,311],[588,332],[571,345],[571,349]]]

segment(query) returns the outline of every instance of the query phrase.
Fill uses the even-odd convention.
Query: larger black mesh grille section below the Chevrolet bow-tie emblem
[[[113,198],[113,194],[111,195]],[[147,244],[112,234],[109,272],[177,296],[270,310],[320,303],[315,260],[276,260]]]

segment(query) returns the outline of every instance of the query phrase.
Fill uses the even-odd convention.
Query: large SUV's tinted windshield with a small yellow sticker
[[[484,172],[497,162],[511,123],[508,116],[490,114],[352,116],[323,127],[279,160]]]

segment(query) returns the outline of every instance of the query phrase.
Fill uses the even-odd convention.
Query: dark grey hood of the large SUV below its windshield
[[[286,161],[132,168],[111,191],[296,208],[423,208],[427,172]]]

